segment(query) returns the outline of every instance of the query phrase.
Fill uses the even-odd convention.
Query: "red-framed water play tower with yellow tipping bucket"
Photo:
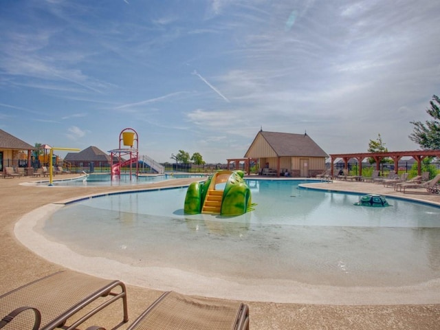
[[[129,146],[129,148],[124,148]],[[133,147],[134,146],[134,147]],[[129,166],[130,179],[133,175],[133,164],[135,164],[135,173],[139,175],[139,139],[137,132],[134,129],[123,129],[119,134],[119,148],[110,150],[111,156],[111,178],[114,176],[120,177],[121,168]],[[124,159],[124,156],[129,156],[129,159]],[[114,159],[118,159],[117,163],[113,164]]]

